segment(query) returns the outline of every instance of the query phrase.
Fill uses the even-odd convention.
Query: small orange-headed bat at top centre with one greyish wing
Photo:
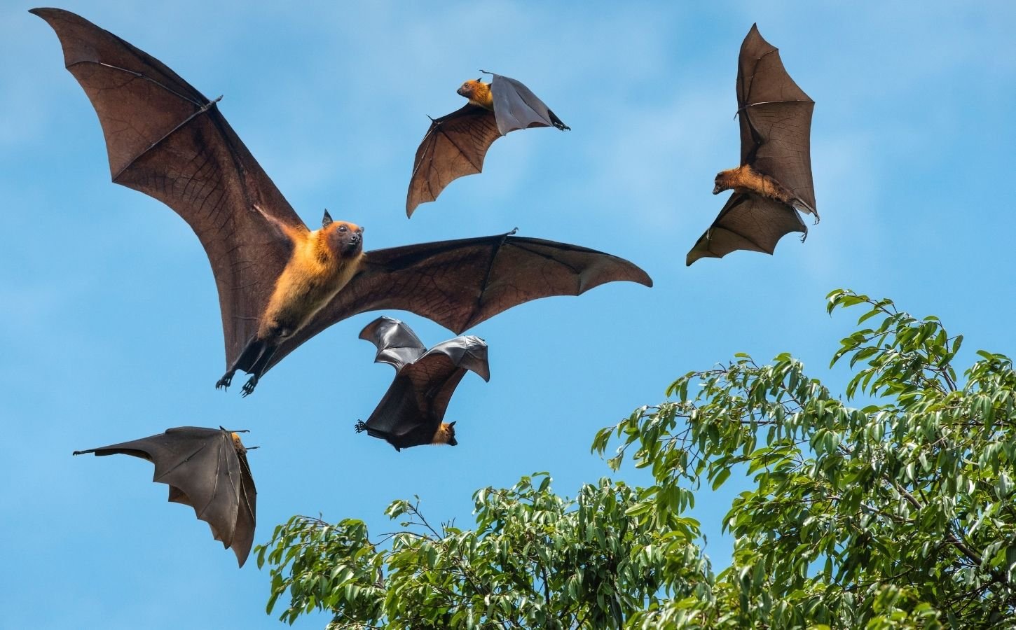
[[[481,79],[462,83],[456,90],[469,102],[447,116],[431,119],[412,161],[405,215],[422,203],[434,201],[446,186],[463,176],[484,169],[491,144],[516,129],[556,127],[571,130],[528,87],[515,79],[494,74],[490,83]]]

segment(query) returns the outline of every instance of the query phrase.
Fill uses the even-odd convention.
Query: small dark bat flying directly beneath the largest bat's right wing
[[[420,444],[457,445],[455,423],[444,422],[444,415],[466,370],[491,379],[484,340],[465,335],[428,350],[408,326],[385,317],[368,324],[360,338],[377,346],[374,362],[392,365],[395,379],[367,422],[356,424],[357,433],[367,431],[395,450]]]

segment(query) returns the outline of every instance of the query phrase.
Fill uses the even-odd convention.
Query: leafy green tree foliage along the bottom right
[[[888,299],[832,363],[845,397],[788,354],[737,355],[685,374],[668,400],[599,431],[614,470],[572,500],[542,474],[475,494],[474,531],[432,528],[417,503],[403,530],[371,541],[362,521],[296,517],[258,561],[272,565],[282,618],[315,609],[335,628],[996,628],[1016,616],[1016,372],[979,351],[957,376],[961,337]],[[863,407],[850,407],[858,400]],[[714,575],[684,515],[704,482],[743,491]],[[267,556],[266,556],[267,554]],[[724,559],[726,560],[726,559]]]

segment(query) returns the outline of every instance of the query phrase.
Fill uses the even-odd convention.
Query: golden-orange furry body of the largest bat
[[[293,240],[293,255],[275,281],[261,318],[258,339],[296,333],[360,270],[364,257],[362,244],[352,254],[343,254],[334,247],[334,236],[342,226],[350,232],[363,231],[345,221],[334,221],[312,232],[285,230]]]

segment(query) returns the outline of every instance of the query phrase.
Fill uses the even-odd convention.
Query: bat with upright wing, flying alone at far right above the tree
[[[753,24],[738,59],[741,165],[716,174],[712,194],[734,189],[716,220],[688,253],[686,264],[736,250],[772,254],[787,232],[808,227],[798,211],[815,216],[811,130],[815,101],[783,68],[779,52]]]

